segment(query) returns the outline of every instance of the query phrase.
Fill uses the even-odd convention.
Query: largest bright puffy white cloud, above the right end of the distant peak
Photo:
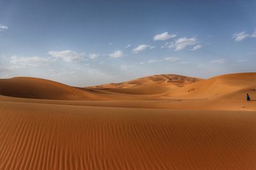
[[[196,38],[179,38],[175,41],[175,43],[171,43],[169,48],[175,47],[175,51],[182,50],[186,48],[186,46],[195,45],[197,43]]]

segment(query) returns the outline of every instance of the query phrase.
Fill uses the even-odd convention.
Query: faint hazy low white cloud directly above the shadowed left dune
[[[16,66],[44,66],[52,62],[51,59],[46,59],[42,57],[19,57],[12,56],[10,58],[10,63],[15,64]]]

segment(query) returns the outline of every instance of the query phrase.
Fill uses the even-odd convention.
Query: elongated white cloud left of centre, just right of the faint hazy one
[[[56,57],[59,59],[63,59],[67,62],[74,61],[74,60],[81,60],[85,57],[85,53],[77,53],[71,50],[65,50],[61,52],[48,52],[52,57]]]

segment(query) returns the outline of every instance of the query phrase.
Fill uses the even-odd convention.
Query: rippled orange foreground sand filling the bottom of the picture
[[[0,169],[256,167],[253,111],[0,106]]]

